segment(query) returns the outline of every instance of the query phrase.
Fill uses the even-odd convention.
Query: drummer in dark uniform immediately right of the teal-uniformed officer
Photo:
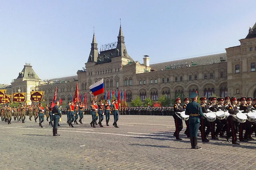
[[[206,105],[207,104],[206,96],[201,97],[200,101],[201,101],[200,105],[201,105],[203,114],[207,113],[208,112],[207,110],[208,108],[210,108],[210,105]],[[200,118],[200,121],[201,121],[201,125],[199,127],[199,130],[201,131],[202,142],[209,142],[207,137],[211,131],[211,124],[209,121],[207,121],[206,118],[204,118],[204,116]],[[206,127],[207,129],[205,130]]]

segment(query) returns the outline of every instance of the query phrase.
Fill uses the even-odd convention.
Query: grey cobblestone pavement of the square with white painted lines
[[[105,119],[105,117],[104,117]],[[45,119],[46,120],[46,119]],[[113,123],[111,115],[110,122]],[[173,136],[172,116],[120,115],[118,126],[91,128],[90,115],[70,128],[62,116],[58,134],[48,122],[0,122],[0,169],[4,170],[255,170],[256,140],[234,146],[220,140],[190,149],[190,140]],[[183,122],[184,127],[186,124]],[[200,141],[200,138],[198,138]]]

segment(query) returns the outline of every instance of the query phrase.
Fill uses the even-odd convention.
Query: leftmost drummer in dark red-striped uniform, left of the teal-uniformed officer
[[[175,104],[174,104],[174,112],[183,112],[184,109],[182,108],[182,106],[180,105],[181,100],[180,100],[180,96],[176,98],[175,100]],[[182,140],[180,138],[180,131],[183,128],[183,124],[182,124],[182,119],[180,119],[176,114],[174,113],[173,118],[174,118],[174,122],[175,122],[175,132],[174,132],[174,136],[176,137],[177,140]],[[177,113],[179,114],[179,113]]]

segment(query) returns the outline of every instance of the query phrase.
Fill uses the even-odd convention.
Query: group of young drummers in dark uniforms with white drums
[[[226,138],[232,144],[239,145],[237,142],[237,133],[239,133],[240,142],[254,140],[252,134],[256,133],[256,98],[242,97],[236,98],[226,96],[225,98],[210,97],[207,101],[206,96],[200,98],[200,105],[204,116],[200,118],[200,127],[202,142],[209,142],[209,134],[213,140],[219,137]],[[185,109],[189,103],[189,98],[184,99],[185,104],[181,105],[180,97],[176,98],[174,104],[174,122],[176,130],[174,136],[177,140],[180,138],[180,131],[183,128],[182,120],[186,122],[185,134],[190,137],[188,117],[185,115]],[[244,133],[245,130],[245,133]],[[226,134],[225,134],[226,132]],[[255,134],[256,136],[256,134]]]

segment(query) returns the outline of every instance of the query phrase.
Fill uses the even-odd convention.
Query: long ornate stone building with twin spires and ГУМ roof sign
[[[46,103],[49,103],[57,87],[58,98],[67,103],[78,83],[79,92],[87,94],[87,104],[90,104],[93,96],[89,86],[104,78],[105,92],[126,90],[128,103],[136,96],[140,96],[142,101],[146,98],[158,100],[162,95],[173,99],[176,96],[188,96],[192,91],[207,97],[216,94],[220,97],[236,95],[256,98],[256,24],[249,29],[246,38],[240,40],[240,46],[226,48],[226,53],[157,64],[150,64],[147,55],[143,58],[143,64],[129,56],[121,26],[117,38],[116,43],[106,44],[98,52],[94,34],[88,60],[76,76],[48,81],[38,78],[34,84],[31,82],[33,85],[18,77],[8,93],[16,92],[18,87],[28,92],[39,85],[39,90],[45,91]],[[102,95],[99,95],[98,99],[101,98]]]

